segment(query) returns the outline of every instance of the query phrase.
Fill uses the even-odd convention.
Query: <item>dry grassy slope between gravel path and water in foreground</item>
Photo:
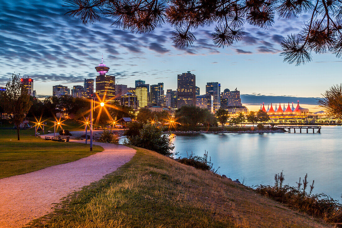
[[[29,227],[324,227],[210,172],[145,149]]]

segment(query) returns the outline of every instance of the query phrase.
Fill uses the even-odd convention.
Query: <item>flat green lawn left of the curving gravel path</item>
[[[35,130],[0,129],[0,178],[30,173],[48,166],[72,162],[103,151],[100,146],[73,142],[46,141],[34,136]],[[57,134],[58,135],[58,134]]]

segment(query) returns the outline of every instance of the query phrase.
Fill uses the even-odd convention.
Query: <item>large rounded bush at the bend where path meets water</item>
[[[163,134],[157,126],[146,124],[143,129],[139,130],[139,135],[127,135],[123,144],[129,144],[153,150],[162,155],[171,156],[173,155],[172,150],[174,149],[172,139],[173,137],[170,137],[169,134]]]

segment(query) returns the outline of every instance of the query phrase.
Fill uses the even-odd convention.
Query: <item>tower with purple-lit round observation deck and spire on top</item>
[[[106,75],[109,67],[103,64],[102,61],[98,66],[95,66],[99,75],[96,76],[96,94],[101,100],[109,101],[115,97],[115,76]]]

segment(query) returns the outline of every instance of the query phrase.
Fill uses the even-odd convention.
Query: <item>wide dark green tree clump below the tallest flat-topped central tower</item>
[[[174,113],[177,122],[185,125],[196,126],[198,123],[203,123],[207,120],[210,112],[206,109],[201,109],[196,106],[182,106]]]

